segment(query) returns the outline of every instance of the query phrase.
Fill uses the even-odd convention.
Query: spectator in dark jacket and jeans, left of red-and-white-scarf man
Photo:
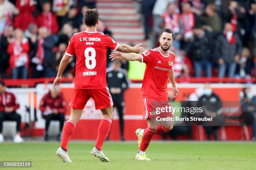
[[[201,77],[202,70],[204,70],[206,77],[212,77],[212,37],[201,26],[195,26],[193,33],[194,40],[191,43],[189,52],[193,55],[195,75],[196,77]]]

